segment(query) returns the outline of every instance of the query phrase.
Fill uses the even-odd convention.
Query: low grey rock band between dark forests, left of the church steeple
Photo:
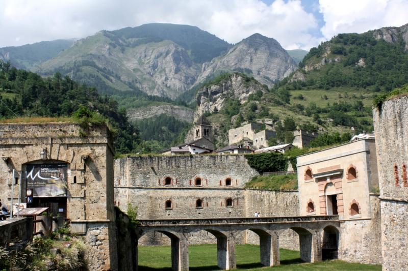
[[[139,119],[149,118],[152,116],[167,114],[174,116],[183,122],[193,122],[193,110],[183,106],[176,105],[155,105],[143,108],[130,108],[127,110],[127,117],[129,121],[134,122]]]

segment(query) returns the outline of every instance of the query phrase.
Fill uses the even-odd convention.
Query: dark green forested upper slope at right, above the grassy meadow
[[[281,85],[287,89],[360,87],[390,91],[408,81],[408,54],[402,34],[396,42],[376,40],[373,32],[339,34],[322,43],[299,63],[305,80]]]

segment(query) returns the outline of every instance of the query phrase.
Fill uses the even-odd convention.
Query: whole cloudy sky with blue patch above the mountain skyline
[[[0,0],[0,47],[163,22],[230,43],[260,33],[309,50],[339,33],[406,24],[407,10],[408,0]]]

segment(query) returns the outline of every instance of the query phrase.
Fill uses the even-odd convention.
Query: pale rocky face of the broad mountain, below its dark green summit
[[[70,73],[88,84],[91,78],[98,77],[113,90],[137,87],[149,95],[170,98],[176,98],[194,83],[199,66],[182,46],[168,40],[144,43],[140,39],[116,38],[104,31],[77,41],[45,62],[44,73]],[[104,86],[100,84],[98,88]]]

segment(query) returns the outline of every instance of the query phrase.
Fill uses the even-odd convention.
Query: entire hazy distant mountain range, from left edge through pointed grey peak
[[[198,27],[165,23],[100,31],[73,44],[7,47],[0,56],[43,76],[69,75],[100,93],[173,100],[222,72],[243,72],[271,86],[296,67],[274,39],[254,34],[233,46]],[[189,99],[195,90],[187,94]]]

